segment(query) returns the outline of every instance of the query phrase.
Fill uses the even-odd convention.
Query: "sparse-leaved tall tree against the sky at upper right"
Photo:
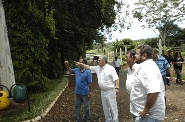
[[[184,0],[139,0],[135,5],[137,7],[133,10],[133,16],[146,23],[143,27],[152,28],[154,31],[157,29],[164,45],[171,29],[167,26],[168,23],[180,22],[185,17]]]

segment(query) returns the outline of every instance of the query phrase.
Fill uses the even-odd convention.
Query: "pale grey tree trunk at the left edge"
[[[0,0],[0,85],[9,88],[15,84],[14,70],[7,36],[4,8]],[[5,90],[5,88],[3,87]]]

